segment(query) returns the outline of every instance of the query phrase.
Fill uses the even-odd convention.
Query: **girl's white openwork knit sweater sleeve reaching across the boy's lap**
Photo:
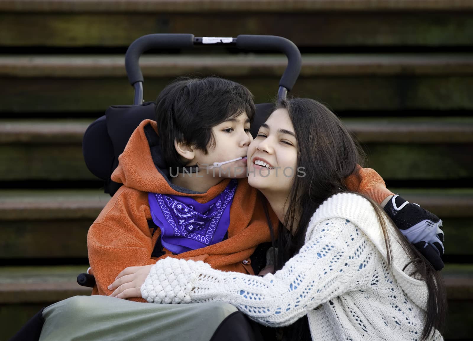
[[[346,219],[318,224],[312,238],[274,275],[213,270],[203,262],[158,261],[141,287],[154,303],[223,301],[258,323],[294,323],[316,306],[369,285],[375,246]]]

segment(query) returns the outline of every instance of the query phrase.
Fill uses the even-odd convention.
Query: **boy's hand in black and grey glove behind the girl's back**
[[[384,210],[435,270],[442,270],[444,267],[442,220],[418,204],[409,203],[399,195],[394,195],[386,203]]]

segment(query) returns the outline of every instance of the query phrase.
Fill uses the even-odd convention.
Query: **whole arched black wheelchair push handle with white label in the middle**
[[[238,35],[231,37],[194,37],[191,34],[152,34],[144,35],[131,43],[125,54],[125,69],[130,84],[135,89],[133,104],[143,103],[143,74],[139,60],[141,54],[150,49],[192,48],[194,45],[231,45],[238,49],[253,51],[282,52],[288,57],[288,66],[280,82],[278,100],[286,98],[298,79],[302,57],[297,46],[290,40],[275,35]]]

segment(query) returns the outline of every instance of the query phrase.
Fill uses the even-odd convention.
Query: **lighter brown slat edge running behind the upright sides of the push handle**
[[[15,78],[124,77],[124,56],[1,56],[0,76]],[[144,55],[145,77],[193,72],[225,77],[280,76],[283,55]],[[473,75],[473,54],[304,54],[300,77]]]

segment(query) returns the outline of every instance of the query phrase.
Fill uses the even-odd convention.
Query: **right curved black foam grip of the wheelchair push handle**
[[[279,85],[290,91],[299,77],[302,57],[299,49],[289,39],[276,35],[238,35],[236,47],[244,50],[277,51],[286,54],[288,66],[282,74]]]

